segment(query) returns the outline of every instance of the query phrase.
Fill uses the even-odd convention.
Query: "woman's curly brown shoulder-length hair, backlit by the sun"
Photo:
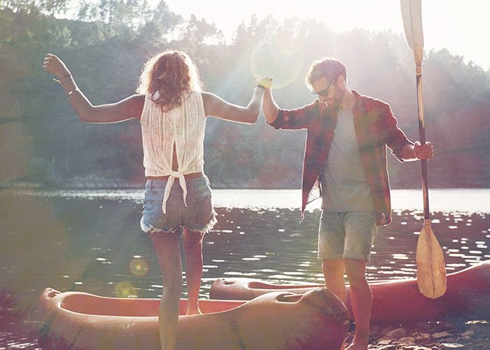
[[[139,77],[137,92],[150,94],[162,111],[168,112],[182,103],[184,92],[202,89],[199,71],[189,55],[167,50],[148,59]]]

